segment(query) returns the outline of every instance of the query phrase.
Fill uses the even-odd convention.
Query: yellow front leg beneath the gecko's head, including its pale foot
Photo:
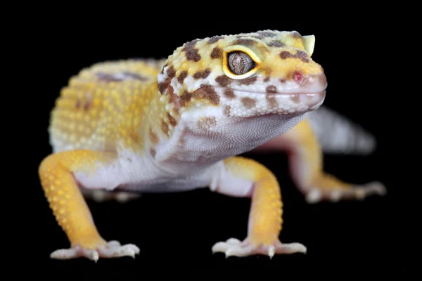
[[[230,238],[217,242],[212,251],[226,256],[251,256],[254,254],[306,253],[300,243],[281,243],[283,202],[279,183],[274,174],[262,164],[243,157],[224,161],[224,172],[213,178],[211,190],[224,195],[251,197],[248,236],[240,241]]]

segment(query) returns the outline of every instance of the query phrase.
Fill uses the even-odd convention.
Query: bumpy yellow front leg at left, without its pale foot
[[[72,247],[79,244],[86,249],[95,249],[106,244],[96,230],[72,172],[94,172],[96,162],[108,162],[110,159],[112,156],[101,152],[72,150],[50,155],[39,166],[39,177],[46,198]]]

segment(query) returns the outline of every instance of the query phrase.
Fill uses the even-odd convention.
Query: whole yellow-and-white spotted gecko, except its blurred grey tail
[[[279,241],[282,201],[274,175],[236,157],[254,149],[292,152],[292,176],[309,202],[383,193],[379,183],[357,188],[323,171],[321,144],[332,145],[321,136],[329,130],[311,126],[321,124],[318,118],[304,119],[324,102],[327,86],[313,49],[313,36],[265,30],[193,40],[167,60],[98,63],[72,77],[51,113],[53,153],[39,166],[71,244],[51,257],[96,261],[139,253],[134,244],[101,237],[84,196],[124,200],[204,186],[252,199],[248,237],[218,242],[213,251],[305,252],[302,244]]]

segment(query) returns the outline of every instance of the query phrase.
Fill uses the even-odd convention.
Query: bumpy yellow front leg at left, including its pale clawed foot
[[[115,157],[106,152],[71,150],[46,157],[39,165],[41,185],[58,224],[70,241],[70,249],[58,249],[52,259],[74,259],[132,256],[139,253],[134,244],[121,245],[101,237],[91,212],[75,181],[75,172],[96,173]]]

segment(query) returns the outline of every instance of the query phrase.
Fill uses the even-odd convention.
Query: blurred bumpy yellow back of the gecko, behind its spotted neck
[[[170,123],[157,95],[161,66],[144,60],[98,63],[72,77],[51,113],[54,150],[142,152],[150,126]]]

